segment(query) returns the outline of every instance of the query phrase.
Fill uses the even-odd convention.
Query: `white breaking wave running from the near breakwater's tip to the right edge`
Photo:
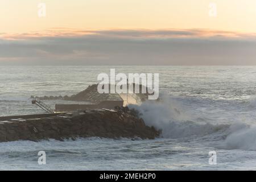
[[[170,96],[161,96],[159,101],[146,101],[130,105],[141,114],[148,126],[162,130],[163,138],[221,136],[219,148],[226,150],[256,150],[256,125],[246,123],[201,122],[192,112],[183,111],[182,105]]]

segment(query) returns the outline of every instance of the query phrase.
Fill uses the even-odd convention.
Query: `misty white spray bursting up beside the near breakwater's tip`
[[[229,125],[196,122],[198,118],[192,111],[183,110],[179,102],[166,94],[162,94],[159,101],[148,100],[139,106],[129,107],[139,111],[146,125],[161,130],[164,138],[203,136],[229,127]]]

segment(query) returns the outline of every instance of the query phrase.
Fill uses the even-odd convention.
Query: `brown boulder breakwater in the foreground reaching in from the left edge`
[[[54,117],[0,122],[0,142],[14,140],[73,139],[77,137],[154,139],[159,131],[148,127],[136,111],[96,109],[60,114]]]

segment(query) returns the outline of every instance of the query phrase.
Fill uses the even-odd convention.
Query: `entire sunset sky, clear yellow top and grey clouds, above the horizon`
[[[0,0],[0,25],[0,65],[256,65],[255,0]]]

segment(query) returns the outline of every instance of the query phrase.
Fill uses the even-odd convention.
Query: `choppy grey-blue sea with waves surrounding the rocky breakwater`
[[[163,131],[160,138],[3,142],[0,169],[256,169],[256,67],[0,67],[0,116],[43,113],[31,95],[75,94],[110,68],[159,73],[162,102],[130,107]],[[38,164],[42,150],[46,165]],[[216,165],[208,163],[213,150]]]

